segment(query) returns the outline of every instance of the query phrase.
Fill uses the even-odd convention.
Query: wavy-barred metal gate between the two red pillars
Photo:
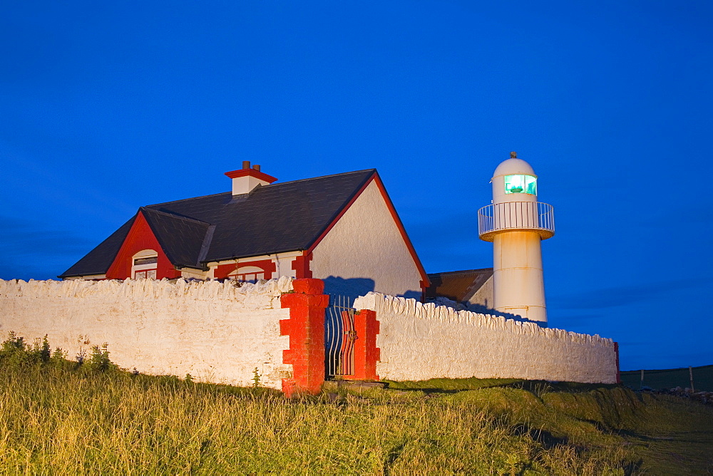
[[[354,373],[354,311],[348,296],[330,296],[324,313],[324,363],[328,378]]]

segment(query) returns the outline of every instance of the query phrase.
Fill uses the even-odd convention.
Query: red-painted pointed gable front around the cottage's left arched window
[[[136,214],[131,228],[124,242],[119,248],[114,261],[106,271],[106,279],[126,279],[131,277],[133,256],[143,249],[153,249],[158,254],[156,264],[156,279],[180,278],[180,271],[173,267],[165,252],[158,243],[155,234],[143,216],[143,212]]]

